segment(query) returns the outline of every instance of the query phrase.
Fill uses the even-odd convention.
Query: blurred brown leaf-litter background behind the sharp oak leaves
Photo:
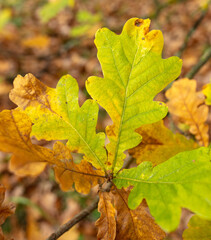
[[[79,83],[82,103],[88,97],[84,89],[87,77],[102,74],[94,45],[96,30],[107,27],[120,33],[131,17],[150,18],[151,29],[163,32],[163,57],[181,56],[181,76],[211,46],[211,8],[207,0],[0,0],[0,110],[15,107],[8,98],[12,82],[17,74],[29,72],[51,87],[62,75],[71,74]],[[210,60],[195,79],[199,88],[211,79]],[[158,99],[165,101],[164,94]],[[100,109],[98,130],[104,130],[109,121]],[[37,178],[19,178],[8,171],[8,161],[9,155],[0,152],[0,182],[8,189],[7,199],[17,206],[16,215],[3,225],[8,239],[46,239],[90,204],[97,192],[93,189],[87,196],[62,192],[51,169]],[[180,227],[168,239],[181,239],[186,216],[184,211]],[[96,239],[94,221],[98,217],[96,210],[59,239]]]

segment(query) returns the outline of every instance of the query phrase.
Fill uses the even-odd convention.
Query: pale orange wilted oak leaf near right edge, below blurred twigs
[[[204,105],[204,97],[196,92],[196,81],[187,78],[173,83],[166,92],[169,99],[169,112],[178,116],[180,121],[190,126],[190,133],[195,135],[200,145],[208,146],[208,107]]]

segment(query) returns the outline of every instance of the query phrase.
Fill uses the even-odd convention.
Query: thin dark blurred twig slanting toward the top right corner
[[[190,38],[192,37],[193,33],[196,31],[196,29],[198,28],[198,26],[200,25],[200,23],[202,22],[202,20],[206,16],[206,13],[208,12],[208,9],[209,9],[209,4],[210,4],[210,1],[208,2],[208,6],[201,11],[201,14],[200,14],[199,18],[195,21],[192,28],[188,31],[183,45],[181,46],[181,48],[179,49],[179,51],[176,54],[178,57],[182,56],[182,53],[186,49]]]

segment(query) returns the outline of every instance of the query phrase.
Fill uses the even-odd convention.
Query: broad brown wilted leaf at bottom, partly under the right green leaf
[[[131,210],[128,205],[128,195],[130,190],[120,189],[112,191],[114,207],[116,209],[116,238],[122,239],[147,239],[159,240],[164,239],[165,232],[154,222],[149,213],[145,201],[135,210]]]

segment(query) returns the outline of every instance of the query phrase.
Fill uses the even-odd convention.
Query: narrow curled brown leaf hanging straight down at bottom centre
[[[108,192],[100,192],[99,196],[98,211],[101,216],[96,222],[98,228],[97,239],[114,240],[116,237],[116,212],[111,203],[111,196]]]

